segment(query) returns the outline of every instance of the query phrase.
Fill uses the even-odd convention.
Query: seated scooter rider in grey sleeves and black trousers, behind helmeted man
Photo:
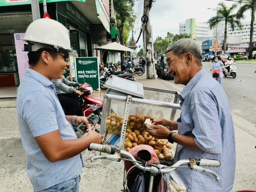
[[[81,91],[74,88],[81,86],[82,84],[71,82],[64,76],[62,76],[61,79],[52,80],[52,83],[55,85],[56,93],[65,115],[82,116],[81,106],[74,95],[78,94],[81,96],[83,94]]]

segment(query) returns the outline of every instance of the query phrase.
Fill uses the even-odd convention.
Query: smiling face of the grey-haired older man
[[[175,84],[188,84],[190,79],[186,54],[183,54],[179,58],[173,51],[169,51],[166,54],[166,63],[168,64],[168,73],[174,76]]]

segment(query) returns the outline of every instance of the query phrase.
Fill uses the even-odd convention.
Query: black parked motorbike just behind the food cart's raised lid
[[[108,89],[108,87],[105,87],[105,83],[108,81],[108,78],[111,75],[115,75],[123,79],[128,79],[130,81],[136,81],[136,79],[133,77],[134,73],[127,73],[125,71],[115,72],[112,70],[112,68],[108,69],[107,67],[104,67],[102,72],[99,74],[99,83],[100,83],[100,88],[102,90]]]

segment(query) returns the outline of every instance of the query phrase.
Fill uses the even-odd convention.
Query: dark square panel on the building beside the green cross
[[[92,25],[93,44],[107,44],[107,31],[102,24]]]

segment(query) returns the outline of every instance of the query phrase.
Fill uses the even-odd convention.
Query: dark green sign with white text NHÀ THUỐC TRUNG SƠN
[[[85,80],[84,80],[85,75]],[[99,90],[99,64],[97,57],[78,57],[76,58],[76,79],[77,82],[86,82]]]

